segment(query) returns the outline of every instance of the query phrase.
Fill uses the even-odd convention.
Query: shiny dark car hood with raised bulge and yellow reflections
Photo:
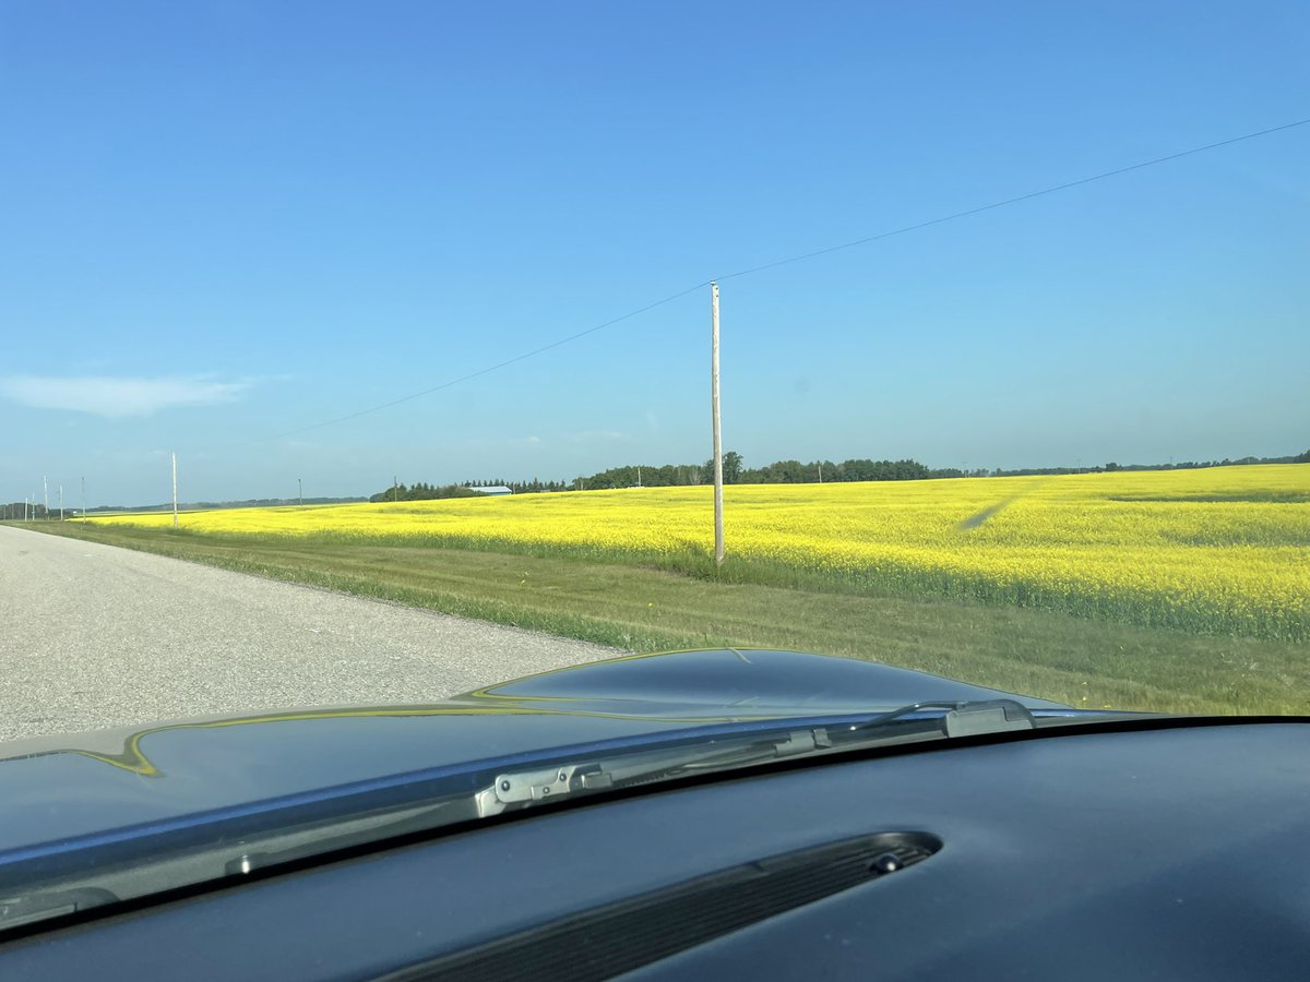
[[[541,752],[912,702],[1014,698],[888,665],[783,651],[643,655],[421,706],[265,712],[0,745],[0,867],[41,843],[176,824],[322,788]]]

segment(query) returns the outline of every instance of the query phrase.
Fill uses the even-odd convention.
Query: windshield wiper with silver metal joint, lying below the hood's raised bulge
[[[941,712],[934,712],[934,711]],[[931,715],[924,716],[921,714]],[[815,725],[741,737],[715,737],[690,746],[565,762],[531,771],[498,774],[476,795],[483,818],[511,808],[558,801],[570,795],[630,787],[686,774],[744,767],[803,754],[819,754],[920,740],[1034,729],[1036,720],[1014,699],[916,702],[863,723]]]

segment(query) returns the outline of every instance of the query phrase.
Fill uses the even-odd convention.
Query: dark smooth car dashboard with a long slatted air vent
[[[511,813],[0,943],[7,979],[1294,978],[1310,727],[1140,720]]]

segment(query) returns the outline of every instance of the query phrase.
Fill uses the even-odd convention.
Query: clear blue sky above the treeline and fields
[[[1288,4],[0,7],[0,500],[705,460],[714,276],[1310,117]],[[723,283],[748,465],[1310,446],[1310,126]]]

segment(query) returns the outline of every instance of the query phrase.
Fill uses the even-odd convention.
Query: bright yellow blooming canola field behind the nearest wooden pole
[[[1310,466],[726,488],[727,575],[1310,640]],[[103,524],[169,526],[170,515]],[[204,534],[705,568],[709,487],[191,512]],[[790,579],[789,579],[790,577]]]

